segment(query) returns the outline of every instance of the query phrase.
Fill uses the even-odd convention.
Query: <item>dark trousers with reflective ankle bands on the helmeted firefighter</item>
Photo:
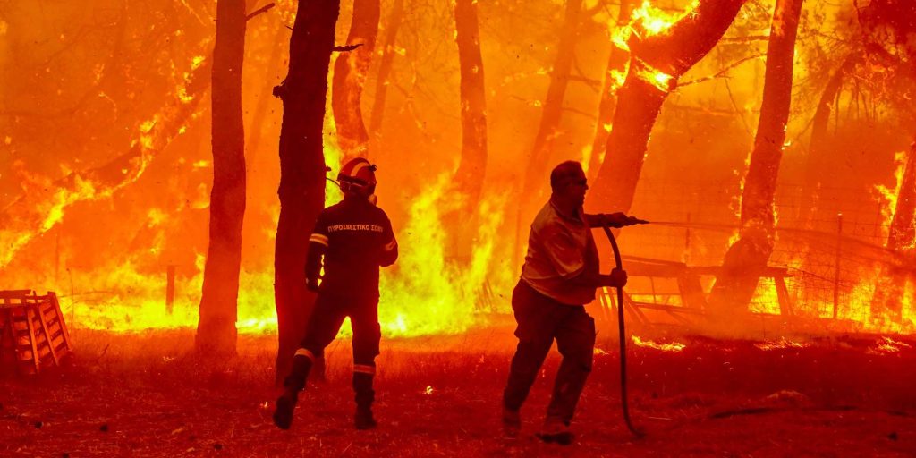
[[[376,355],[381,340],[378,325],[377,294],[354,294],[350,291],[322,289],[315,300],[315,308],[306,327],[301,348],[296,351],[292,372],[285,385],[300,390],[315,358],[324,355],[324,348],[331,344],[344,318],[350,317],[353,326],[353,387],[356,404],[367,406],[375,399],[372,379],[376,374]]]

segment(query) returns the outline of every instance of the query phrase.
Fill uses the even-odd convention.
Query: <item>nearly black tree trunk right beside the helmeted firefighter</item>
[[[280,125],[280,215],[274,254],[277,377],[285,376],[314,296],[305,289],[309,232],[324,206],[322,125],[338,0],[300,0],[289,38],[289,73],[274,88],[283,101]]]

